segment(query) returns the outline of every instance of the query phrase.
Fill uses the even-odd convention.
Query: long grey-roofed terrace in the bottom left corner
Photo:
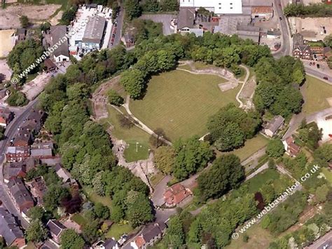
[[[15,217],[5,208],[0,207],[0,235],[9,247],[25,247],[25,236]]]

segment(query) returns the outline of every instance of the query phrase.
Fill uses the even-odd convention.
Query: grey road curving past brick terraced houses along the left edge
[[[11,198],[8,196],[7,192],[7,186],[4,183],[4,159],[5,159],[5,152],[8,147],[8,141],[11,140],[11,138],[15,135],[15,133],[18,130],[18,127],[22,124],[22,122],[27,119],[27,116],[29,116],[29,113],[36,107],[37,105],[37,99],[33,100],[32,102],[29,102],[27,107],[25,109],[18,113],[17,116],[15,116],[15,119],[11,121],[11,123],[7,126],[5,135],[6,138],[0,142],[0,200],[2,201],[3,206],[13,215],[18,217],[18,220],[21,222],[21,225],[23,228],[27,228],[28,223],[25,219],[22,218],[22,215],[19,213],[19,211],[15,208],[13,205],[13,202]]]

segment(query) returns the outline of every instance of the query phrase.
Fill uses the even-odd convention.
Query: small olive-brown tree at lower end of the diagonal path
[[[160,146],[155,149],[154,161],[155,166],[164,174],[172,173],[175,151],[169,146]]]

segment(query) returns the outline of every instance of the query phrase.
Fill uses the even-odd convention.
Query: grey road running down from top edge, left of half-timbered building
[[[273,53],[275,58],[280,58],[284,55],[290,55],[291,48],[291,33],[289,31],[288,22],[286,17],[284,16],[284,12],[282,11],[282,3],[280,0],[275,0],[274,3],[275,11],[282,20],[280,21],[280,27],[282,29],[282,46],[276,53]]]

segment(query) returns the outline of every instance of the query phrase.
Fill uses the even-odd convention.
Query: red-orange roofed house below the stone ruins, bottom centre
[[[182,184],[174,184],[164,193],[164,201],[167,206],[176,206],[185,198],[193,194],[190,189],[186,189]]]

